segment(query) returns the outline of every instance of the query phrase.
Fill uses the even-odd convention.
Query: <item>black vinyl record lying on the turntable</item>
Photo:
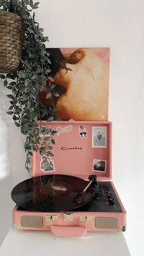
[[[69,211],[89,202],[94,194],[88,181],[69,175],[43,175],[24,180],[12,189],[12,199],[20,207],[35,211]]]

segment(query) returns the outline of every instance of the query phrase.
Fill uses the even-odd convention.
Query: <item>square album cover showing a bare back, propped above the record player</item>
[[[47,48],[55,93],[40,103],[57,109],[61,120],[108,120],[109,48]],[[47,81],[49,84],[49,79]]]

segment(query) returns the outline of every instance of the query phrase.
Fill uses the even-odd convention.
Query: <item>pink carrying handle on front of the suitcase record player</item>
[[[84,236],[87,229],[85,227],[51,226],[51,233],[54,236]]]

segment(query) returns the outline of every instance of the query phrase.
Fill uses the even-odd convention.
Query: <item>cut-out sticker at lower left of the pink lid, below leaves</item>
[[[40,170],[42,170],[43,172],[54,171],[54,161],[52,161],[49,156],[41,156]]]

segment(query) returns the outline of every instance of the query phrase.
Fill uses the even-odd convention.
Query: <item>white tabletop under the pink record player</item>
[[[130,256],[122,232],[88,232],[82,238],[55,237],[47,231],[10,229],[1,256]]]

